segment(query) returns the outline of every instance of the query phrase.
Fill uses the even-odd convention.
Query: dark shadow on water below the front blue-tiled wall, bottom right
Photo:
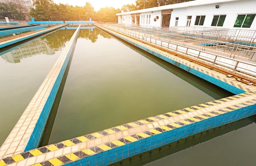
[[[131,158],[127,158],[125,160],[119,161],[117,163],[111,164],[111,166],[143,166],[152,161],[158,160],[160,158],[164,158],[168,155],[172,155],[181,150],[187,149],[189,147],[193,147],[199,143],[206,142],[215,137],[224,135],[228,132],[232,132],[234,130],[240,129],[242,127],[246,127],[250,124],[256,122],[256,115],[251,116],[249,118],[241,119],[239,121],[235,121],[230,124],[226,124],[220,127],[216,127],[214,129],[209,129],[205,132],[201,132],[190,137],[181,139],[179,141],[175,141],[165,146],[161,146],[157,149],[144,152],[142,154],[133,156]]]

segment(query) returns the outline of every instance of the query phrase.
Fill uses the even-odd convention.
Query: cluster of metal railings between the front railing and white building
[[[175,29],[137,28],[134,26],[123,26],[118,24],[109,24],[110,26],[125,29],[144,36],[162,39],[168,42],[174,42],[184,46],[199,48],[202,51],[209,50],[215,53],[221,53],[224,56],[234,58],[235,56],[245,59],[256,59],[256,38],[229,36],[225,34],[209,33],[209,31],[194,31],[193,33],[178,33]],[[205,28],[206,29],[206,28]],[[191,29],[190,29],[191,30]],[[196,30],[196,29],[194,29]],[[215,29],[216,31],[219,31]],[[215,30],[211,30],[215,31]]]

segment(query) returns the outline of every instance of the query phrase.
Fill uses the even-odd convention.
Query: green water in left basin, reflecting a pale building
[[[74,31],[58,30],[12,45],[12,48],[0,49],[0,145],[12,131]]]

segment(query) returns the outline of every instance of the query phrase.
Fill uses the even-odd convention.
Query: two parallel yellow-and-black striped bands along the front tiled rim
[[[33,149],[33,150],[28,151],[28,152],[23,152],[21,154],[14,155],[12,157],[4,158],[3,160],[0,160],[0,166],[5,166],[5,165],[10,164],[10,163],[14,163],[14,162],[17,162],[17,161],[20,161],[20,160],[24,160],[26,158],[30,158],[30,157],[33,157],[33,156],[41,155],[41,154],[44,154],[44,153],[47,153],[47,152],[52,152],[52,151],[55,151],[57,149],[61,149],[61,148],[67,147],[67,146],[75,145],[77,143],[93,140],[93,139],[96,139],[96,138],[101,138],[103,136],[110,135],[110,134],[113,134],[113,133],[116,133],[116,132],[120,132],[120,131],[123,131],[123,130],[126,130],[126,129],[130,129],[130,128],[133,128],[133,127],[138,127],[138,126],[143,125],[143,124],[148,124],[148,123],[158,121],[158,120],[161,120],[161,119],[166,119],[166,118],[170,118],[172,116],[177,116],[177,115],[180,115],[180,114],[192,112],[194,110],[200,110],[201,108],[211,107],[213,105],[221,104],[221,103],[224,103],[224,102],[227,102],[227,101],[233,101],[235,99],[243,98],[243,97],[250,96],[250,95],[255,95],[255,92],[251,91],[251,92],[242,93],[242,94],[239,94],[239,95],[236,95],[236,96],[231,96],[231,97],[222,98],[222,99],[215,100],[215,101],[210,101],[210,102],[207,102],[207,103],[204,103],[204,104],[199,104],[199,105],[192,106],[192,107],[187,107],[187,108],[184,108],[184,109],[181,109],[181,110],[176,110],[176,111],[173,111],[173,112],[164,113],[164,114],[157,115],[157,116],[154,116],[154,117],[145,118],[145,119],[142,119],[142,120],[139,120],[139,121],[134,121],[134,122],[124,124],[124,125],[121,125],[121,126],[113,127],[111,129],[105,129],[105,130],[102,130],[100,132],[94,132],[92,134],[84,135],[84,136],[73,138],[73,139],[66,140],[66,141],[62,141],[60,143],[47,145],[47,146],[44,146],[44,147],[41,147],[41,148],[38,148],[38,149]],[[158,133],[163,132],[165,130],[175,129],[177,127],[181,127],[181,126],[186,125],[186,124],[190,124],[190,123],[193,123],[193,122],[196,122],[196,121],[200,121],[200,120],[203,120],[205,118],[209,118],[209,117],[212,117],[212,116],[215,116],[215,115],[227,113],[227,112],[239,109],[241,107],[246,107],[246,106],[249,106],[249,105],[252,105],[252,104],[256,104],[256,99],[255,100],[250,100],[250,101],[247,101],[247,102],[243,102],[241,104],[236,104],[236,105],[233,105],[233,106],[230,106],[230,107],[226,107],[224,109],[215,110],[215,111],[212,111],[211,113],[206,113],[204,115],[198,115],[198,116],[195,116],[193,118],[188,118],[188,119],[185,119],[185,120],[182,120],[182,121],[178,121],[176,123],[173,123],[172,125],[169,124],[169,125],[166,125],[166,126],[151,129],[149,131],[138,133],[136,135],[127,136],[125,138],[121,138],[121,139],[116,140],[116,141],[111,141],[109,143],[105,143],[105,145],[95,146],[93,148],[86,149],[86,150],[81,151],[79,153],[78,152],[73,153],[70,156],[66,156],[66,157],[62,156],[61,158],[57,158],[55,160],[49,160],[49,163],[54,165],[54,164],[57,164],[57,163],[65,163],[66,161],[70,161],[70,160],[72,160],[72,161],[73,160],[78,160],[79,158],[84,158],[88,155],[93,155],[93,154],[101,152],[101,151],[112,149],[116,146],[122,146],[126,143],[137,141],[141,138],[147,138],[151,135],[158,134]]]

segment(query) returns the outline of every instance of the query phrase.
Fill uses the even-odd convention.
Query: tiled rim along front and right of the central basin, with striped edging
[[[106,29],[105,29],[106,30]],[[105,129],[0,160],[0,166],[103,166],[256,114],[255,87],[109,33],[237,95]]]

